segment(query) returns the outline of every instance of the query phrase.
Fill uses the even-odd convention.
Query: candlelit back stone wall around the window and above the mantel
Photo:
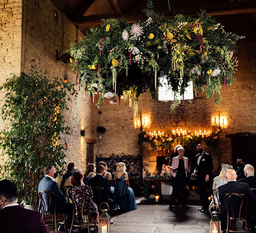
[[[170,110],[171,102],[152,100],[144,95],[140,98],[139,113],[150,117],[150,124],[144,128],[146,131],[186,128],[187,130],[211,130],[211,117],[220,114],[228,116],[228,125],[220,134],[216,148],[207,148],[213,156],[214,171],[217,172],[218,164],[231,163],[231,139],[225,138],[227,133],[256,132],[255,114],[255,72],[256,72],[256,33],[248,22],[250,15],[219,16],[217,22],[225,26],[226,31],[231,31],[246,38],[239,42],[239,50],[234,56],[238,57],[237,82],[222,91],[221,105],[205,100],[204,93],[199,93],[190,104],[185,101],[184,106],[179,106],[175,111]],[[244,30],[242,30],[242,28]],[[244,34],[245,33],[245,34]],[[121,107],[110,105],[107,101],[102,106],[100,125],[106,127],[106,132],[99,142],[100,154],[125,154],[139,153],[137,144],[139,129],[135,129],[133,109],[129,103],[121,101]],[[138,119],[139,116],[137,116]],[[143,164],[150,172],[156,167],[157,151],[152,151],[148,143],[143,144]],[[219,160],[219,161],[218,161]]]

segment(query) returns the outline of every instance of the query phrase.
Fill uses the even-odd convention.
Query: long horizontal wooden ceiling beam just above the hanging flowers
[[[232,3],[222,3],[222,4],[211,4],[207,6],[202,6],[201,9],[206,10],[208,15],[216,16],[216,15],[234,15],[234,14],[245,14],[245,13],[255,13],[256,12],[256,1],[248,0],[248,1],[239,1]],[[161,11],[156,12],[159,15],[164,15],[168,19],[174,18],[177,14],[183,14],[184,16],[196,16],[199,9],[196,7],[189,7],[183,9],[173,9],[171,11]],[[122,17],[121,14],[113,15],[113,14],[101,14],[101,15],[89,15],[89,16],[81,16],[81,17],[70,17],[70,20],[73,21],[76,25],[87,25],[91,24],[99,25],[102,23],[102,19],[108,18],[119,18]],[[126,20],[129,23],[135,23],[138,20],[144,20],[144,13],[137,14],[126,14],[124,15]]]

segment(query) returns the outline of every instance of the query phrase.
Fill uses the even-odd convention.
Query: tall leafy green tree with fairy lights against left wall
[[[32,70],[8,78],[2,89],[6,94],[1,115],[10,124],[0,137],[2,155],[7,158],[0,167],[1,178],[15,182],[27,204],[37,204],[43,167],[64,170],[64,147],[57,142],[60,134],[71,131],[63,111],[68,111],[67,101],[77,93],[73,84],[49,80]]]

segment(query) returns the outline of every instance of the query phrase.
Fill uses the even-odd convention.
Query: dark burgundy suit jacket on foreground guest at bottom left
[[[39,211],[24,209],[20,205],[0,211],[0,232],[50,233]]]

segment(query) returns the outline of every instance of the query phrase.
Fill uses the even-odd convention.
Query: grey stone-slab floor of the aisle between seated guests
[[[137,210],[126,212],[111,220],[111,233],[210,233],[210,214],[197,211],[200,206],[182,209],[174,206],[173,212],[168,205],[137,205]]]

